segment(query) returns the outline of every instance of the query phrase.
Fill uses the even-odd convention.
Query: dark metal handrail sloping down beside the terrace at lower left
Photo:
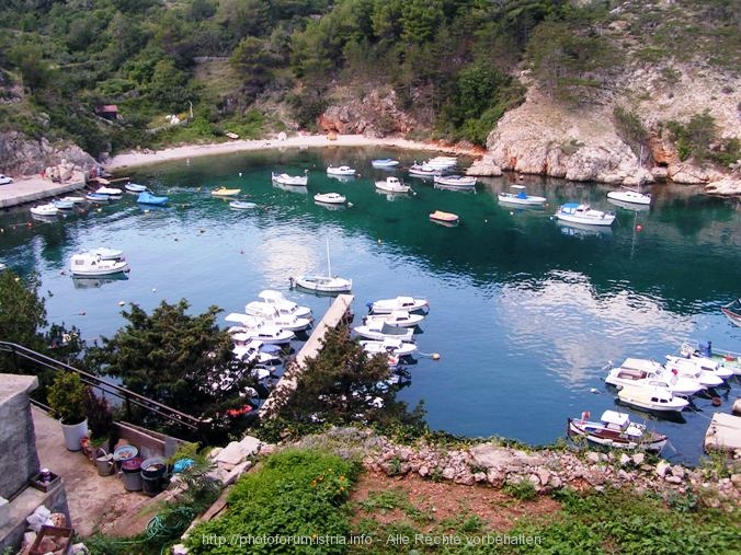
[[[126,388],[122,388],[121,385],[117,385],[115,383],[107,382],[102,378],[99,378],[98,375],[93,375],[83,370],[80,370],[79,368],[75,368],[73,366],[67,365],[66,362],[61,362],[60,360],[56,360],[54,358],[47,357],[46,355],[42,355],[41,352],[23,347],[22,345],[9,342],[0,342],[0,351],[12,352],[15,356],[21,356],[26,360],[30,360],[45,368],[49,368],[52,370],[65,369],[71,372],[77,372],[80,375],[82,383],[90,385],[91,388],[96,388],[105,393],[110,393],[118,398],[124,400],[126,402],[126,409],[129,413],[129,415],[130,415],[130,405],[134,404],[146,411],[149,411],[150,413],[155,413],[163,418],[167,418],[170,421],[186,426],[191,429],[200,429],[205,424],[207,424],[207,421],[202,420],[201,418],[196,418],[195,416],[181,413],[176,408],[163,405],[162,403],[159,403],[155,400],[145,397],[144,395],[127,390]]]

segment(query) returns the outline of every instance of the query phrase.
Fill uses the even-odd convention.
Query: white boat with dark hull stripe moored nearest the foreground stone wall
[[[666,444],[666,436],[646,428],[645,424],[630,420],[630,416],[617,411],[605,411],[600,421],[590,421],[590,414],[581,418],[569,418],[569,437],[582,437],[600,446],[661,452]]]

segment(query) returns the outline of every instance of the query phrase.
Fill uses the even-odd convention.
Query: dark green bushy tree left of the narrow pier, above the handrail
[[[218,328],[210,307],[186,314],[189,303],[162,301],[151,314],[137,304],[123,312],[128,321],[102,346],[90,349],[91,365],[121,378],[123,385],[193,416],[213,416],[242,406],[247,386],[254,385],[250,366],[237,361],[230,335]]]

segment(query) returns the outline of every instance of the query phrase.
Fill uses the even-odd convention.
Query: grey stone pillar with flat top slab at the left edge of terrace
[[[35,375],[0,374],[0,497],[10,498],[38,473],[29,393]]]

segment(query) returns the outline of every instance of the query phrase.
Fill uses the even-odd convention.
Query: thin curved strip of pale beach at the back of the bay
[[[110,172],[167,162],[169,160],[183,160],[213,154],[228,154],[247,150],[260,149],[288,149],[288,148],[321,148],[321,147],[389,147],[403,150],[430,150],[459,155],[480,157],[482,151],[478,149],[465,149],[455,146],[445,146],[437,142],[417,142],[400,138],[374,139],[362,135],[338,135],[329,139],[326,135],[298,135],[280,139],[258,140],[232,140],[213,144],[190,144],[174,147],[159,151],[134,151],[117,154],[103,164]]]

